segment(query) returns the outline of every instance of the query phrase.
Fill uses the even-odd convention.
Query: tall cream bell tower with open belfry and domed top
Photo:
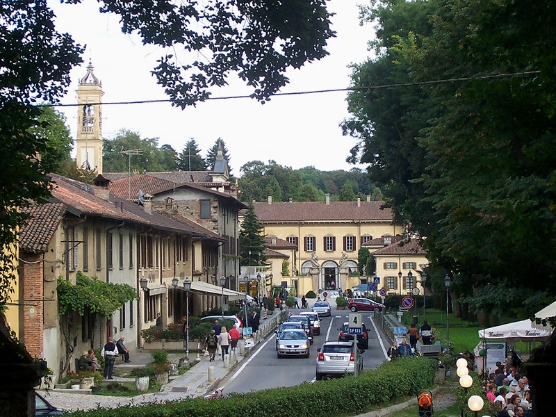
[[[87,74],[77,86],[77,166],[96,169],[102,174],[102,84],[92,72],[89,61]]]

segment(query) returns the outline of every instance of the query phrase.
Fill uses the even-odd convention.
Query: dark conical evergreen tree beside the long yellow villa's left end
[[[256,217],[253,206],[250,204],[239,232],[240,265],[265,265],[265,236],[263,235],[263,225]],[[251,265],[250,265],[251,261]]]

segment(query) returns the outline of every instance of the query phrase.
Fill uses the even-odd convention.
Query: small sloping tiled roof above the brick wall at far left
[[[44,253],[63,218],[65,205],[61,203],[31,204],[22,208],[29,218],[19,229],[19,250],[31,254]]]

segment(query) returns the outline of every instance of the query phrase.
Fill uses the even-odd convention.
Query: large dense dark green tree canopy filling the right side
[[[475,310],[530,313],[556,295],[553,8],[363,8],[378,56],[354,66],[354,87],[409,85],[350,92],[352,161],[369,164],[397,219],[426,236],[436,279],[452,275]]]

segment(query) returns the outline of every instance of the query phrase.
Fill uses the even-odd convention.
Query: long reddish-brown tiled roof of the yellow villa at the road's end
[[[287,202],[254,203],[260,222],[304,222],[340,220],[392,221],[390,208],[381,208],[384,202]]]

